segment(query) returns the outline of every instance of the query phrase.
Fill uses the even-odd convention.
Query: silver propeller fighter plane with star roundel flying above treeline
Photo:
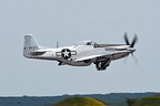
[[[106,70],[111,61],[132,54],[136,42],[134,35],[130,43],[124,33],[126,44],[98,44],[93,41],[84,41],[72,46],[57,49],[43,47],[38,44],[33,35],[24,35],[23,55],[28,59],[58,61],[58,65],[89,66],[96,64],[98,71]]]

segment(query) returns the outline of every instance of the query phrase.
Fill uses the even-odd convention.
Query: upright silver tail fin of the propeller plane
[[[26,57],[31,57],[31,51],[39,50],[40,45],[33,35],[24,35],[24,46],[23,46],[23,55]]]

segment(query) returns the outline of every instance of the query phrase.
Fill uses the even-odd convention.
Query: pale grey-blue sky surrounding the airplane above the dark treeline
[[[0,96],[159,92],[159,0],[1,0]],[[138,34],[137,65],[130,55],[98,72],[22,55],[24,34],[56,47],[57,41],[124,43],[124,32],[130,41]]]

